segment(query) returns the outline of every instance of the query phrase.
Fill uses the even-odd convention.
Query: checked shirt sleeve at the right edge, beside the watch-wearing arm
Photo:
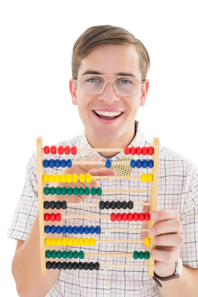
[[[191,166],[188,186],[181,213],[182,231],[185,242],[180,257],[185,266],[198,268],[198,168]]]

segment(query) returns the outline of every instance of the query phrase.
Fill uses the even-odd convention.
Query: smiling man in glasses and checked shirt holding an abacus
[[[149,68],[149,56],[144,45],[125,29],[114,26],[95,26],[87,29],[76,41],[72,54],[72,76],[69,90],[72,103],[77,105],[85,130],[82,135],[56,146],[76,146],[77,148],[124,148],[126,146],[148,147],[152,142],[145,140],[140,123],[136,120],[139,106],[144,106],[149,88],[146,79]],[[160,136],[159,136],[160,138]],[[73,159],[98,160],[110,158],[112,161],[126,158],[122,152],[84,152],[80,151]],[[59,158],[49,154],[47,158]],[[128,156],[127,156],[128,157]],[[133,156],[130,156],[132,158]],[[129,158],[129,159],[130,159]],[[134,155],[134,159],[140,156]],[[142,156],[141,158],[144,158]],[[76,167],[75,167],[76,166]],[[75,165],[67,172],[90,172],[94,175],[140,175],[148,173],[143,168],[131,168],[130,172],[95,166]],[[75,168],[74,168],[75,167]],[[104,166],[105,167],[105,166]],[[69,171],[70,170],[70,171]],[[73,170],[73,171],[72,171]],[[108,264],[143,264],[143,260],[127,257],[93,257],[85,261],[99,261],[105,268],[98,271],[79,271],[58,269],[48,271],[41,277],[38,235],[38,195],[36,178],[36,153],[33,153],[27,166],[27,178],[21,199],[17,206],[8,236],[18,239],[17,250],[13,258],[12,271],[20,296],[197,296],[198,284],[198,169],[190,160],[176,152],[160,146],[158,211],[153,234],[156,235],[156,249],[151,251],[155,259],[154,272],[160,278],[172,275],[172,280],[160,280],[160,283],[148,277],[144,268],[108,268]],[[47,174],[60,173],[60,168],[46,168]],[[96,182],[95,182],[96,183]],[[102,189],[148,189],[148,184],[128,179],[98,180]],[[53,185],[53,184],[52,184]],[[52,186],[50,184],[50,186]],[[87,186],[86,183],[84,183]],[[56,197],[60,199],[59,197]],[[96,197],[61,196],[67,201],[96,201]],[[102,194],[101,200],[149,200],[147,193],[123,195],[121,193]],[[110,209],[109,209],[110,210]],[[89,207],[68,207],[67,214],[109,214],[108,209]],[[134,208],[141,212],[142,208]],[[147,208],[144,207],[144,212]],[[121,211],[120,211],[121,212]],[[36,219],[35,219],[36,218]],[[107,219],[70,219],[63,225],[99,225],[105,228],[146,227],[141,222],[111,222]],[[53,235],[55,237],[56,235]],[[66,234],[66,237],[70,235]],[[141,236],[142,232],[141,232]],[[60,237],[57,235],[56,237]],[[71,236],[72,237],[72,236]],[[96,239],[139,239],[140,233],[105,231]],[[24,242],[25,241],[25,242]],[[30,249],[36,251],[35,260],[31,260],[32,269],[25,264],[19,270],[22,258],[30,257]],[[55,248],[55,247],[54,247]],[[68,250],[68,247],[62,247]],[[77,247],[69,247],[71,250]],[[57,247],[56,250],[60,249]],[[81,247],[85,253],[133,252],[141,250],[138,244],[96,244]],[[177,268],[178,259],[183,260],[183,271]],[[26,272],[25,272],[26,268]],[[23,270],[23,271],[21,271]],[[179,272],[178,272],[179,270]],[[181,273],[182,272],[182,273]],[[180,275],[181,274],[181,275]],[[26,281],[24,286],[22,279]],[[31,285],[31,280],[32,284]],[[39,289],[35,288],[36,287]],[[42,295],[43,294],[43,295]]]

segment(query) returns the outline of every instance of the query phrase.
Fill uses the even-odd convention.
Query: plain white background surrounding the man
[[[0,2],[1,296],[17,296],[11,274],[16,241],[6,237],[38,136],[52,145],[84,127],[69,93],[72,48],[89,27],[125,28],[151,60],[146,139],[158,137],[198,165],[198,18],[196,1]],[[6,292],[6,293],[5,293]]]

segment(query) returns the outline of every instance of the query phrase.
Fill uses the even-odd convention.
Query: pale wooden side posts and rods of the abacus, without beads
[[[158,168],[159,168],[159,139],[158,138],[153,138],[153,148],[154,148],[154,152],[153,152],[153,167],[151,169],[151,174],[153,176],[153,180],[151,182],[150,185],[150,190],[123,190],[125,192],[147,192],[150,193],[150,203],[148,203],[149,205],[149,214],[151,214],[151,212],[156,211],[157,210],[157,190],[158,190]],[[124,151],[123,148],[79,148],[78,151],[80,150],[86,150],[86,151]],[[90,162],[78,162],[78,163],[83,163],[83,164],[89,164]],[[92,162],[94,164],[102,164],[102,162]],[[112,162],[113,163],[113,162]],[[119,164],[127,164],[127,162],[119,162]],[[116,162],[116,165],[118,165],[118,162]],[[41,253],[41,272],[42,275],[45,276],[46,275],[46,247],[45,247],[45,221],[44,221],[44,201],[45,201],[45,194],[44,194],[44,187],[45,187],[45,183],[43,182],[43,175],[44,175],[44,167],[43,167],[43,140],[42,137],[38,137],[37,138],[37,171],[38,171],[38,196],[39,196],[39,229],[40,229],[40,253]],[[96,178],[96,177],[95,177]],[[100,179],[102,178],[107,178],[107,177],[100,177]],[[110,178],[110,177],[108,177]],[[127,177],[122,177],[122,176],[112,176],[111,178],[127,178]],[[128,177],[129,178],[129,177]],[[140,178],[140,177],[130,177],[130,178]],[[105,191],[105,190],[104,190]],[[103,191],[103,192],[104,192]],[[113,191],[112,192],[118,192],[120,190],[117,191]],[[110,192],[110,190],[108,190],[108,192]],[[74,203],[68,203],[70,204],[70,206],[72,206],[72,204]],[[87,203],[89,204],[89,203]],[[91,204],[91,203],[90,203]],[[138,204],[138,203],[137,203]],[[140,203],[141,205],[145,205],[145,203]],[[66,216],[65,216],[66,217]],[[68,216],[69,217],[69,216]],[[77,217],[77,216],[76,216]],[[154,226],[156,223],[156,220],[152,219],[150,216],[150,219],[148,221],[148,229],[145,229],[148,231],[148,238],[150,239],[150,244],[147,246],[147,251],[150,252],[151,249],[154,248],[154,244],[153,244],[153,239],[155,236],[151,235],[149,230],[152,226]],[[141,230],[143,231],[143,229],[133,229],[133,230]],[[137,240],[138,241],[138,240]],[[139,240],[140,241],[140,240]],[[98,241],[99,242],[99,241]],[[133,240],[131,241],[133,242]],[[93,255],[93,254],[92,254]],[[106,255],[106,253],[103,254],[104,256]],[[119,256],[119,253],[115,253],[115,256]],[[122,254],[123,256],[123,254]],[[126,253],[126,256],[131,256],[131,253]],[[147,259],[147,263],[148,265],[141,265],[141,267],[148,267],[148,274],[149,277],[153,277],[153,273],[154,273],[154,259],[149,256],[149,259]],[[114,267],[115,265],[111,265],[110,267]],[[101,265],[101,267],[105,267],[105,265]],[[119,267],[139,267],[139,265],[120,265]]]

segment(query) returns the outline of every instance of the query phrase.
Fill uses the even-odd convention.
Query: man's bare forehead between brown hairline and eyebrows
[[[140,79],[138,63],[139,56],[133,45],[99,45],[82,59],[79,76],[87,70],[93,70],[104,75],[127,72]]]

